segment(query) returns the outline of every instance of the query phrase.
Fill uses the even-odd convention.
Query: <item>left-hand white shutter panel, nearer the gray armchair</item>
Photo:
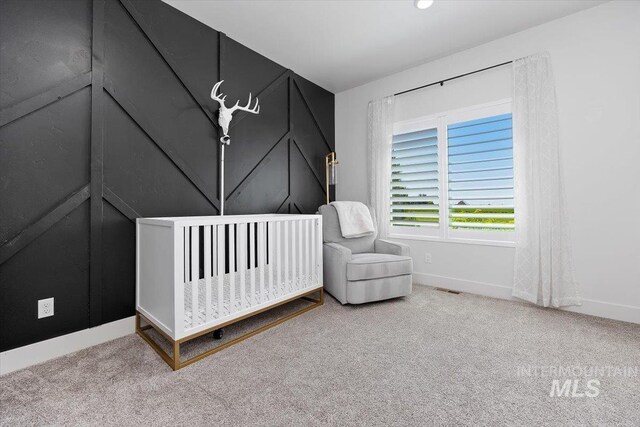
[[[391,225],[437,227],[437,128],[394,135],[391,156]]]

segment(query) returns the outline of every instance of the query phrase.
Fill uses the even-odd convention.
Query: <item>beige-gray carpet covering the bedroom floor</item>
[[[327,297],[175,373],[135,335],[15,372],[0,424],[638,426],[638,376],[571,376],[599,395],[550,397],[566,376],[518,375],[638,365],[639,325],[414,286],[364,306]]]

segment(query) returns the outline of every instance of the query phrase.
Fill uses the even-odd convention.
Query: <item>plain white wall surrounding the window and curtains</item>
[[[640,323],[639,23],[640,2],[605,3],[337,94],[338,199],[366,201],[370,100],[548,51],[576,276],[585,299],[576,311]],[[510,96],[507,66],[397,97],[396,119]],[[409,243],[417,281],[508,297],[513,248]],[[424,263],[425,252],[432,264]]]

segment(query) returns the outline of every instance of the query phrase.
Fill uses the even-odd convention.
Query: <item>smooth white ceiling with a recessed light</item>
[[[604,3],[164,1],[334,93]]]

